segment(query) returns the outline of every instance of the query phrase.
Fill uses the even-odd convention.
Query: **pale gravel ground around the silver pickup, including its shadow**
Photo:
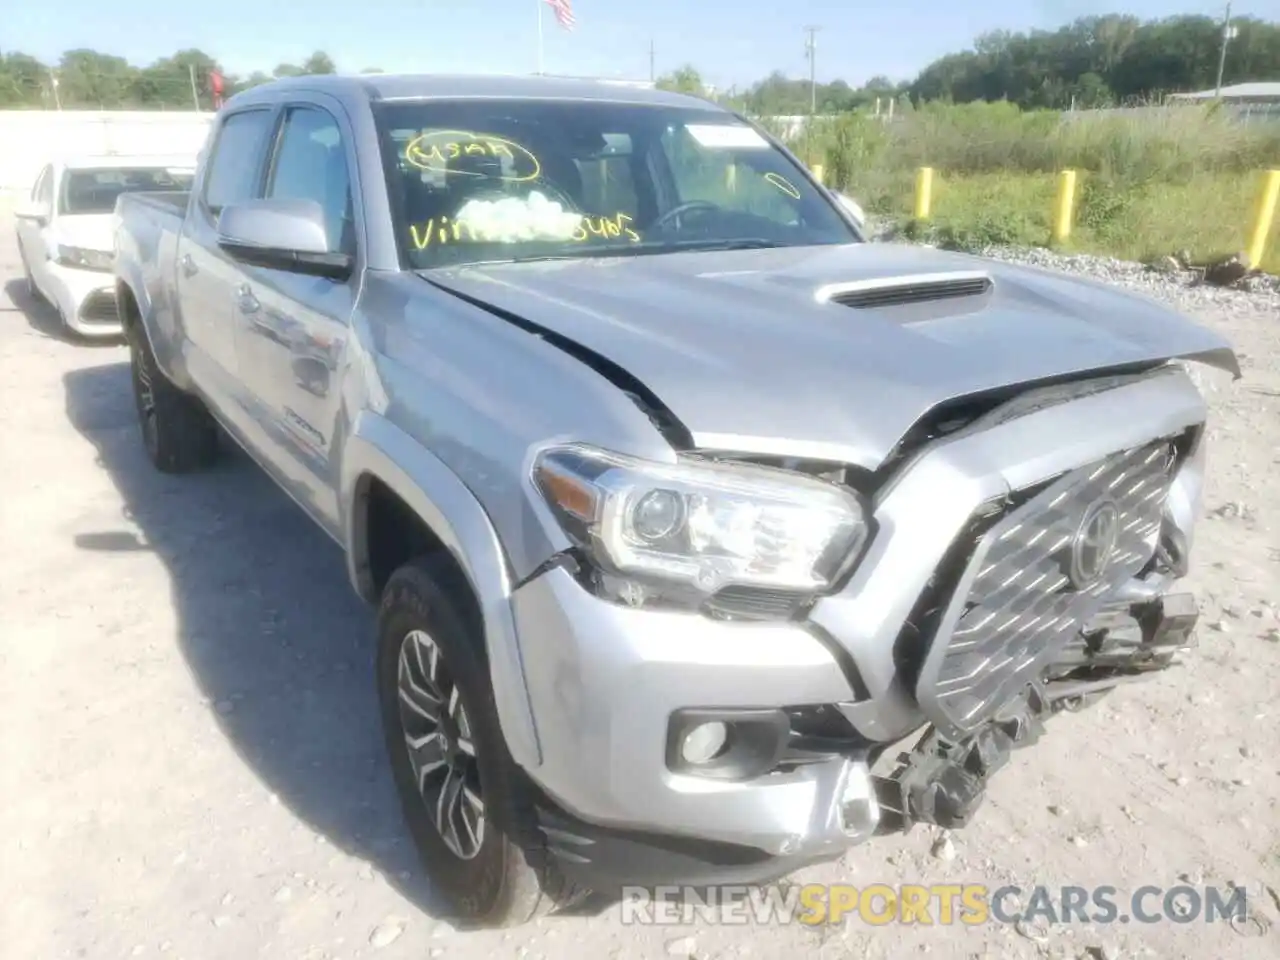
[[[371,616],[340,557],[244,457],[143,463],[118,346],[22,293],[0,215],[0,954],[54,957],[1275,957],[1280,955],[1280,300],[1111,261],[1007,252],[1139,287],[1228,334],[1185,668],[1066,714],[977,823],[803,879],[1247,886],[1257,923],[507,933],[433,919],[381,758]]]

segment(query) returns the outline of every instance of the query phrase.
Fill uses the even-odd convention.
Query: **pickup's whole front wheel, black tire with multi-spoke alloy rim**
[[[396,571],[378,617],[378,692],[404,819],[462,924],[511,927],[564,901],[524,773],[498,724],[484,636],[426,561]]]

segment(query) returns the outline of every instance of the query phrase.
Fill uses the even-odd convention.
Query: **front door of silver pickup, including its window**
[[[242,268],[236,291],[242,375],[264,416],[266,460],[278,479],[332,534],[339,532],[332,460],[343,429],[339,390],[360,282],[352,206],[355,156],[340,110],[317,102],[284,110],[265,196],[314,200],[324,210],[329,250],[357,257],[349,280]]]

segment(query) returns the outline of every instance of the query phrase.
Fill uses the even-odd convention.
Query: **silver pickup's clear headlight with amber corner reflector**
[[[726,588],[809,598],[867,538],[844,486],[787,470],[658,463],[582,444],[544,451],[534,479],[613,599],[699,603]]]

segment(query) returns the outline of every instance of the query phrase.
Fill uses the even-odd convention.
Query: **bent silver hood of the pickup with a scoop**
[[[914,307],[819,302],[826,284],[984,271],[984,297]],[[698,447],[874,468],[931,408],[1047,378],[1199,358],[1221,337],[1139,294],[906,244],[686,252],[428,270],[645,384]],[[923,310],[923,312],[922,312]]]

